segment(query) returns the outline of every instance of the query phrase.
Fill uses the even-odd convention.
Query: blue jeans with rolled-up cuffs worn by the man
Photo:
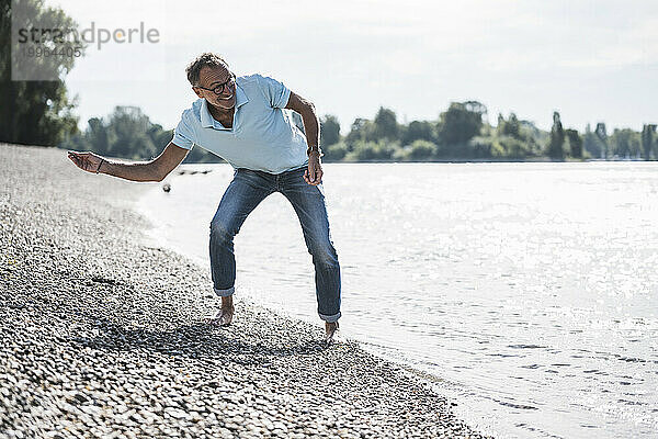
[[[229,296],[235,292],[236,259],[234,237],[247,216],[265,196],[281,192],[297,213],[304,240],[315,266],[318,314],[326,322],[340,318],[340,264],[329,233],[322,183],[304,181],[307,167],[282,173],[239,168],[224,192],[211,223],[211,271],[215,293]]]

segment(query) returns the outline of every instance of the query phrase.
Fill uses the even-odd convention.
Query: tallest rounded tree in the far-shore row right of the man
[[[452,102],[447,111],[441,113],[438,134],[449,154],[466,156],[464,146],[479,134],[483,127],[483,116],[487,108],[477,101]]]

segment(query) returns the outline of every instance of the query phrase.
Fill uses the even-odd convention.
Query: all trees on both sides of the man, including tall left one
[[[10,42],[10,1],[0,0],[0,37]],[[59,8],[41,0],[22,0],[34,16],[46,16],[61,27],[72,20]],[[11,44],[0,45],[0,142],[60,146],[93,150],[111,157],[155,157],[171,140],[172,131],[152,123],[135,106],[117,106],[106,117],[92,117],[82,132],[73,114],[76,99],[67,93],[66,75],[75,59],[43,60],[44,69],[59,71],[56,81],[11,80]],[[15,47],[14,47],[15,49]],[[293,119],[303,128],[298,114]],[[325,161],[432,161],[432,160],[581,160],[658,159],[656,125],[642,132],[615,128],[608,133],[603,122],[583,133],[565,128],[558,112],[551,131],[511,113],[488,121],[487,108],[477,101],[452,102],[433,121],[398,123],[395,112],[379,108],[372,120],[355,119],[347,134],[336,116],[320,120],[320,145]],[[196,147],[185,162],[222,161]]]

